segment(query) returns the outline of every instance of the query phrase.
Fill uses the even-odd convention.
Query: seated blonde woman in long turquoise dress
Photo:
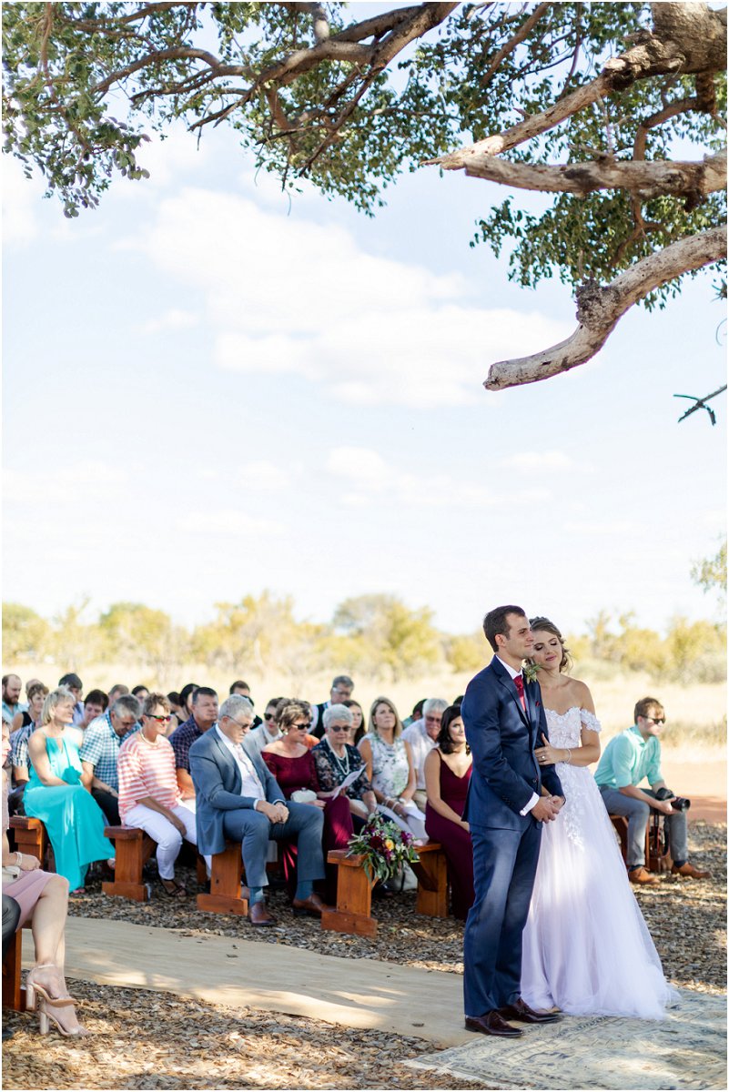
[[[43,820],[56,871],[67,878],[72,894],[84,890],[92,860],[113,857],[113,846],[104,836],[104,812],[81,782],[83,737],[71,723],[73,703],[67,687],[46,698],[40,724],[28,738],[31,770],[23,797],[26,816]]]

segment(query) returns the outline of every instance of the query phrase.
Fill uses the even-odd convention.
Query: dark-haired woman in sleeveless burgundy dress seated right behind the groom
[[[466,743],[461,705],[443,711],[437,746],[426,758],[426,830],[445,850],[453,915],[466,921],[474,904],[474,850],[468,823],[461,818],[466,804],[473,758]]]

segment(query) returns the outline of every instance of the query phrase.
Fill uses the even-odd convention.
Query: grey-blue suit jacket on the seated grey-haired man
[[[286,797],[265,762],[258,756],[248,753],[248,757],[259,775],[268,804],[276,804],[278,800],[285,804]],[[240,795],[238,763],[215,728],[195,739],[190,748],[190,776],[195,786],[198,850],[200,853],[223,853],[225,812],[252,808],[255,797]]]

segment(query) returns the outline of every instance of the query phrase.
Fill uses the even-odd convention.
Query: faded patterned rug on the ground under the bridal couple
[[[406,1065],[488,1089],[727,1088],[726,997],[682,989],[662,1021],[563,1017],[521,1026],[519,1040],[474,1035]]]

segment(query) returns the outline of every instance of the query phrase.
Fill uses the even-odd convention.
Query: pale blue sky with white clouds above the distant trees
[[[725,526],[710,275],[634,308],[589,364],[499,393],[494,360],[575,327],[470,249],[494,185],[422,168],[370,219],[291,200],[222,128],[176,132],[63,218],[3,156],[3,598],[146,603],[184,625],[264,589],[300,619],[384,592],[475,631],[504,602],[712,617]]]

